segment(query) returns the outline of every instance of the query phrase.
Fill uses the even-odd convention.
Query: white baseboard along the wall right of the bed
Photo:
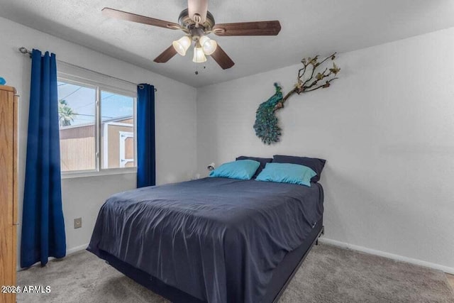
[[[349,248],[352,250],[358,250],[362,253],[369,253],[371,255],[379,255],[380,257],[389,258],[392,260],[411,263],[411,264],[415,264],[415,265],[421,265],[421,266],[425,266],[426,268],[433,268],[434,270],[441,270],[443,272],[454,275],[454,268],[450,268],[448,266],[439,265],[436,263],[430,263],[430,262],[426,262],[426,261],[418,260],[418,259],[414,259],[414,258],[407,258],[402,255],[395,255],[394,253],[386,253],[381,250],[375,250],[372,248],[357,246],[357,245],[353,245],[353,244],[349,244],[349,243],[345,243],[345,242],[341,242],[341,241],[336,241],[336,240],[331,240],[331,239],[323,238],[323,237],[321,237],[319,239],[319,241],[321,243],[331,244],[333,246],[338,246],[341,248]]]

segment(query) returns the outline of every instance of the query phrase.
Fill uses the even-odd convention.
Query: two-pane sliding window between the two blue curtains
[[[135,167],[135,94],[89,80],[57,85],[62,172]]]

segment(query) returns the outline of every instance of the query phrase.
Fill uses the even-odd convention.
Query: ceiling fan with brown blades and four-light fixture
[[[219,36],[277,35],[281,30],[279,21],[216,24],[213,15],[208,11],[208,0],[188,0],[188,8],[179,13],[178,23],[118,11],[117,9],[104,8],[102,13],[111,18],[184,31],[186,35],[173,41],[169,48],[155,58],[154,61],[157,63],[165,63],[177,53],[182,56],[186,55],[187,50],[194,43],[192,61],[196,63],[205,62],[206,55],[211,55],[223,70],[233,67],[235,63],[215,40],[208,37],[210,33]]]

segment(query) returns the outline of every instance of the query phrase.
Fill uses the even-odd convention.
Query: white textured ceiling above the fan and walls
[[[194,87],[297,64],[316,53],[343,53],[454,26],[452,0],[210,0],[217,23],[279,20],[282,25],[277,37],[212,34],[236,62],[222,70],[211,58],[196,65],[189,50],[186,57],[153,62],[183,32],[105,18],[103,7],[177,22],[187,1],[0,0],[0,16]]]

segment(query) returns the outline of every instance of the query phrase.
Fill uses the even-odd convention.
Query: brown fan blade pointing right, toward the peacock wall
[[[216,35],[277,35],[281,31],[279,21],[221,23],[213,27]]]

